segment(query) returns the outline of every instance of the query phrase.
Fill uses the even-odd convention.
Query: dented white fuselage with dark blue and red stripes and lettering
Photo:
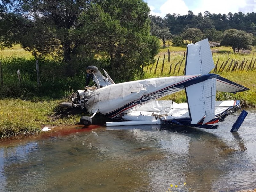
[[[184,82],[198,75],[172,76],[112,84],[90,93],[87,110],[115,118],[131,108],[184,89]],[[183,84],[183,86],[182,86]]]

